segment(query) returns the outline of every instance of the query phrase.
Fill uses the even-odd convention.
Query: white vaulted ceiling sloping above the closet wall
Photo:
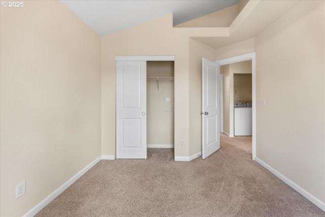
[[[238,3],[238,0],[60,1],[100,36],[170,13],[173,13],[173,24],[177,25]]]

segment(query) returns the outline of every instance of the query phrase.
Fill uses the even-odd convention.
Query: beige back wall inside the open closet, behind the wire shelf
[[[147,61],[147,77],[174,77],[174,61]],[[174,81],[147,81],[147,144],[174,144]]]

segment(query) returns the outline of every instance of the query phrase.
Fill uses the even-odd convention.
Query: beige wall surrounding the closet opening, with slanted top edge
[[[175,56],[174,151],[189,156],[189,37],[222,36],[224,28],[173,28],[172,14],[102,38],[102,154],[115,156],[115,56]],[[180,146],[184,140],[184,146]]]

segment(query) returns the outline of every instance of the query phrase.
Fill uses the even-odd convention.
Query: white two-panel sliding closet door
[[[116,158],[147,159],[146,61],[116,61]]]

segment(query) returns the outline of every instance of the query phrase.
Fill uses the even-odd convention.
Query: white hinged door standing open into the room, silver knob
[[[202,58],[202,158],[220,148],[219,66]]]

